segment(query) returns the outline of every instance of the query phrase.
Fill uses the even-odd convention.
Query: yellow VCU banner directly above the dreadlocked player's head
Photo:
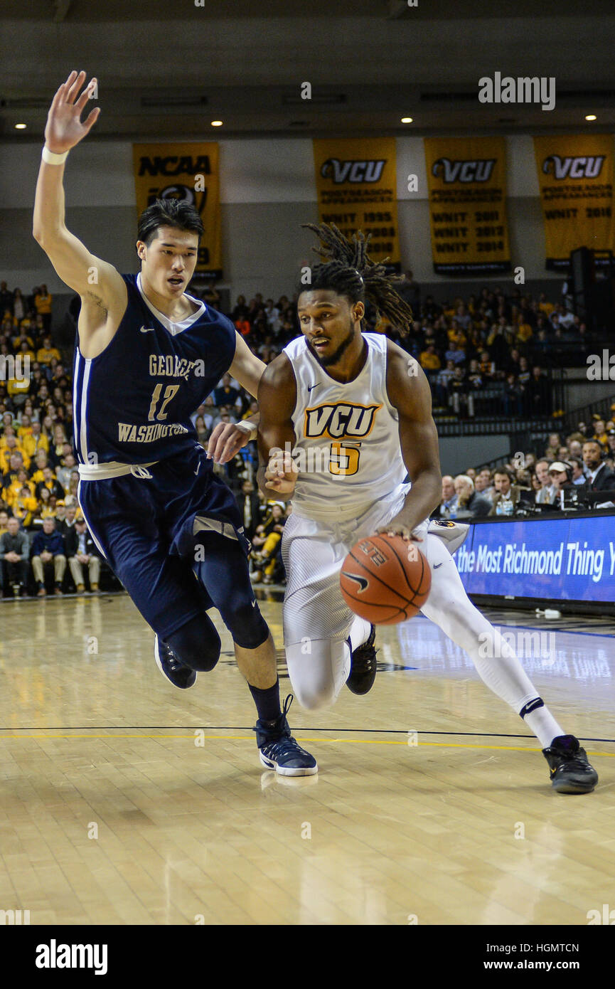
[[[320,223],[371,233],[372,260],[399,272],[395,137],[314,140],[313,160]]]

